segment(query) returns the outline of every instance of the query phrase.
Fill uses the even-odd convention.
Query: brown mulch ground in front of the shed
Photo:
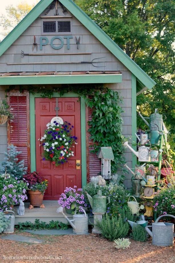
[[[113,242],[95,234],[88,236],[38,236],[19,233],[39,239],[42,244],[27,244],[0,239],[0,262],[16,263],[164,263],[175,262],[175,246],[158,247],[147,242],[131,241],[130,248],[114,248]],[[42,256],[46,259],[9,259],[9,256]],[[53,257],[49,259],[49,256]],[[61,256],[61,259],[54,258]],[[5,259],[5,257],[7,259]]]

